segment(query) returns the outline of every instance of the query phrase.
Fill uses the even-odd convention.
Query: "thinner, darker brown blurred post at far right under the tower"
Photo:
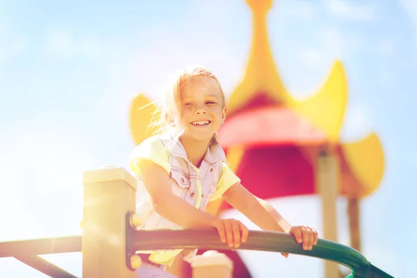
[[[361,252],[361,226],[359,223],[359,197],[347,197],[347,215],[349,215],[350,247]]]

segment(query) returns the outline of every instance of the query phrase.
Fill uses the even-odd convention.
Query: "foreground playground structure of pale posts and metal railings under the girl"
[[[229,250],[214,229],[137,231],[136,179],[122,167],[85,172],[83,184],[82,236],[0,243],[0,258],[13,256],[50,277],[76,278],[38,255],[83,252],[83,277],[134,278],[135,269],[141,263],[140,257],[135,254],[138,250]],[[247,242],[238,249],[288,252],[334,261],[352,270],[348,277],[392,277],[356,250],[330,240],[319,239],[316,247],[307,251],[302,250],[289,234],[250,231]],[[231,278],[231,268],[224,264],[199,263],[194,265],[193,277]]]

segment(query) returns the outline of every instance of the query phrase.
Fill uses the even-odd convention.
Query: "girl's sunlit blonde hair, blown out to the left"
[[[220,85],[218,78],[212,72],[204,69],[203,67],[193,67],[174,72],[174,74],[169,76],[164,86],[165,98],[156,112],[156,114],[159,114],[159,119],[152,121],[151,124],[156,127],[156,134],[173,132],[174,137],[177,139],[183,135],[184,129],[182,122],[183,106],[181,104],[181,89],[184,84],[188,83],[193,77],[196,76],[204,76],[217,81],[222,97],[222,108],[226,107],[222,86]],[[154,116],[156,116],[156,114],[154,114]],[[215,133],[213,138],[211,138],[210,145],[215,145],[217,143],[217,134]]]

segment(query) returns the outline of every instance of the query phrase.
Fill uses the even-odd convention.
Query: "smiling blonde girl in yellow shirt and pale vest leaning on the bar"
[[[139,229],[214,227],[223,243],[237,248],[247,240],[247,227],[205,211],[208,202],[223,197],[261,229],[293,234],[304,250],[311,250],[317,232],[292,227],[268,202],[246,190],[228,167],[216,140],[227,114],[218,79],[208,70],[195,68],[177,74],[168,84],[158,136],[144,140],[129,159],[139,179]],[[174,277],[165,271],[165,265],[171,265],[177,256],[190,262],[196,252],[142,251],[138,277]]]

